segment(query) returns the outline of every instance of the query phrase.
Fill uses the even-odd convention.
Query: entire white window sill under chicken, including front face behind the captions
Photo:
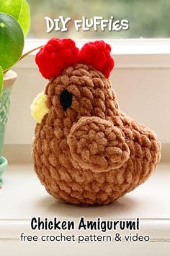
[[[160,164],[158,170],[148,182],[110,205],[86,208],[58,202],[53,197],[50,197],[37,180],[32,165],[9,165],[6,174],[4,174],[4,187],[0,191],[0,243],[4,255],[32,255],[31,252],[35,255],[37,247],[39,249],[36,251],[36,255],[53,255],[56,246],[58,247],[58,252],[63,253],[62,255],[68,255],[68,252],[69,255],[75,255],[76,250],[76,252],[79,252],[76,255],[81,254],[84,256],[87,251],[89,252],[89,249],[93,251],[95,248],[96,255],[102,256],[104,247],[107,247],[107,255],[112,255],[112,247],[116,247],[117,256],[135,255],[132,254],[131,250],[130,254],[127,254],[129,246],[130,248],[133,246],[133,248],[138,249],[139,256],[142,256],[143,252],[148,252],[148,250],[150,252],[152,250],[156,256],[168,255],[166,253],[169,252],[170,242],[170,204],[166,195],[169,195],[169,168],[169,164]],[[44,234],[58,234],[59,231],[32,231],[30,229],[30,220],[39,216],[48,219],[57,217],[59,220],[75,221],[76,226],[81,216],[88,220],[99,217],[105,220],[140,218],[140,231],[138,231],[138,234],[148,235],[151,240],[150,242],[133,242],[133,244],[130,243],[131,245],[129,242],[88,242],[83,244],[70,242],[67,243],[66,247],[65,243],[56,244],[56,242],[21,243],[19,236],[22,232],[26,235],[32,234],[39,237]],[[71,234],[68,231],[62,231],[62,233]],[[127,231],[120,231],[120,233],[128,234]],[[130,231],[129,233],[136,234],[136,231]],[[76,236],[89,234],[89,231],[75,230],[73,234]],[[101,235],[101,232],[95,231],[94,234]],[[109,234],[113,235],[115,231],[109,231]],[[77,247],[78,245],[79,247]],[[84,250],[86,246],[88,248]],[[25,250],[25,248],[27,249]],[[119,254],[119,252],[123,253]],[[134,252],[136,252],[135,249]]]

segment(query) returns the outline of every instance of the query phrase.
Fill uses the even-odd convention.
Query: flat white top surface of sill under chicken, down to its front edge
[[[170,163],[160,163],[146,183],[124,197],[97,209],[86,208],[59,202],[48,195],[37,179],[31,163],[10,163],[0,190],[0,219],[23,219],[32,216],[166,219],[170,216],[169,198],[166,197],[169,195],[169,180]],[[12,197],[14,200],[11,200]]]

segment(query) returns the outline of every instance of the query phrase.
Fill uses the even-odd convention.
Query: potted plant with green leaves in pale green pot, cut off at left
[[[26,0],[1,0],[0,5],[0,187],[1,175],[7,165],[1,155],[9,115],[12,85],[17,79],[10,70],[22,59],[24,37],[30,27],[30,7]]]

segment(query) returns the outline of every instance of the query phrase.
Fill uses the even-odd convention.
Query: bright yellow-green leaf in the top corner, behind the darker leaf
[[[26,0],[0,0],[0,12],[14,17],[22,27],[24,35],[30,28],[30,7]]]

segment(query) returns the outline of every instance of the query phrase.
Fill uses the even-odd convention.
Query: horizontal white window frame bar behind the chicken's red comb
[[[94,39],[92,39],[94,40]],[[112,56],[116,68],[169,68],[170,67],[170,38],[166,39],[103,39],[112,46]],[[43,46],[48,40],[26,39],[24,53],[38,46]],[[91,40],[75,40],[81,48]],[[16,68],[35,68],[32,59],[37,51],[19,61]],[[34,63],[34,64],[32,64]]]

